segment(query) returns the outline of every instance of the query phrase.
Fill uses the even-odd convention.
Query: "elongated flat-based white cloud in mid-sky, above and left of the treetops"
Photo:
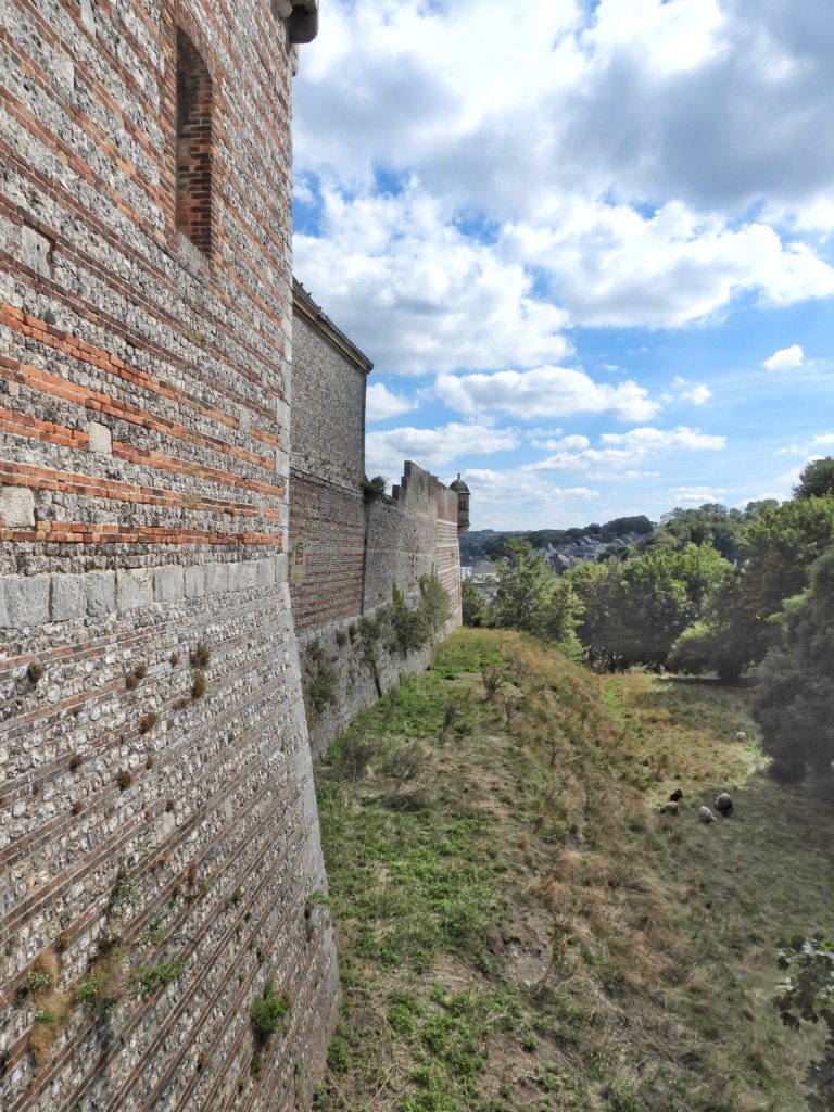
[[[459,413],[493,409],[528,419],[609,413],[620,420],[647,420],[661,408],[636,383],[610,386],[595,383],[582,370],[552,366],[523,373],[440,375],[436,391],[447,406]]]

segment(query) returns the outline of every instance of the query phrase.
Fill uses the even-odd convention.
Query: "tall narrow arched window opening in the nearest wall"
[[[177,227],[211,255],[211,75],[177,30]]]

